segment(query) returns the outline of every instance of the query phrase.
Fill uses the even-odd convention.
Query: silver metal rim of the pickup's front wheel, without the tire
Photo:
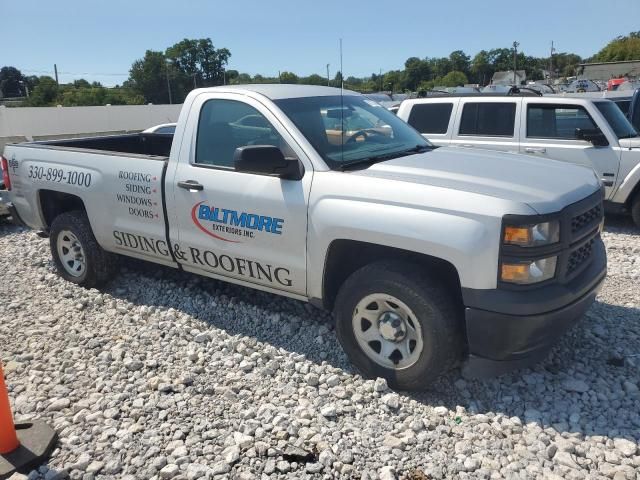
[[[422,328],[411,309],[392,295],[364,297],[353,311],[353,333],[367,357],[385,368],[402,370],[420,358]]]

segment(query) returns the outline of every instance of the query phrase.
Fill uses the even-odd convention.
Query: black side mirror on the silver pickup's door
[[[285,180],[300,180],[304,176],[300,160],[285,158],[282,150],[273,145],[236,148],[233,164],[238,172],[274,175]]]

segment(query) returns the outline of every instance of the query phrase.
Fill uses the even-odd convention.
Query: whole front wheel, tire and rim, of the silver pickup
[[[422,390],[461,356],[452,292],[408,263],[376,262],[354,272],[338,293],[335,317],[352,363],[393,388]]]

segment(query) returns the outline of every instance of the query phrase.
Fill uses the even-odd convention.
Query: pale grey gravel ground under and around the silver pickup
[[[546,361],[405,394],[310,305],[130,261],[85,290],[0,222],[11,401],[60,437],[29,478],[640,479],[640,232],[604,238],[598,302]]]

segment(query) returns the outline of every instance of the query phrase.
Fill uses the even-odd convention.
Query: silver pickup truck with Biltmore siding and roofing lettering
[[[402,389],[539,360],[606,275],[591,169],[435,148],[339,89],[198,89],[174,136],[8,145],[2,169],[68,281],[120,254],[310,301]]]

